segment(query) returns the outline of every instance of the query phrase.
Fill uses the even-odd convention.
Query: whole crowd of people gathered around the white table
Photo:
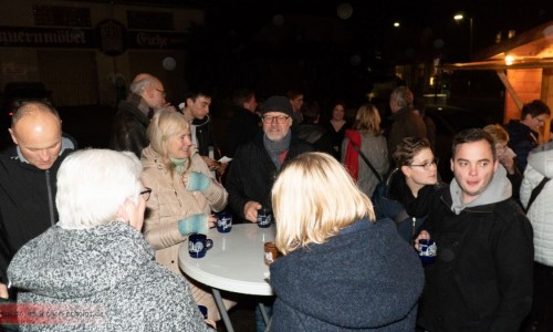
[[[178,248],[207,234],[215,212],[257,222],[262,208],[274,214],[283,257],[270,266],[275,297],[263,303],[269,326],[255,313],[258,331],[553,326],[543,102],[525,104],[520,121],[458,133],[441,160],[453,174],[446,184],[436,128],[407,86],[392,92],[384,129],[371,103],[349,121],[343,101],[322,111],[301,91],[258,101],[237,90],[225,147],[208,92],[175,107],[146,73],[129,91],[108,148],[79,148],[49,104],[13,114],[14,144],[0,156],[0,299],[93,319],[23,314],[0,328],[212,331],[215,299],[180,271]],[[419,240],[435,241],[435,262],[417,258]]]

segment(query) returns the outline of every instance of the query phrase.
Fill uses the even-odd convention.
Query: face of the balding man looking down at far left
[[[10,128],[11,138],[21,154],[40,169],[50,169],[60,156],[62,128],[60,121],[52,114],[29,114]]]

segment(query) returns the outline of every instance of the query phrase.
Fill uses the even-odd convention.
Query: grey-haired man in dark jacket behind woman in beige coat
[[[161,81],[150,74],[136,75],[129,90],[127,100],[119,102],[115,114],[109,148],[131,151],[139,158],[142,149],[149,144],[146,128],[154,113],[175,107],[165,100],[167,93]]]

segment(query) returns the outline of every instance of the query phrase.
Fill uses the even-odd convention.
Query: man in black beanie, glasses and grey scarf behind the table
[[[314,151],[290,131],[293,112],[288,97],[269,97],[261,106],[263,133],[238,147],[234,154],[226,187],[229,206],[242,220],[255,222],[259,209],[271,209],[271,189],[282,166],[304,152]],[[258,331],[264,331],[260,312],[255,312],[255,322]]]

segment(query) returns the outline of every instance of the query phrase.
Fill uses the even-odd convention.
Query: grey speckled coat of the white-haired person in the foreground
[[[62,319],[76,320],[21,324],[22,332],[212,331],[185,279],[156,263],[154,249],[124,222],[54,226],[19,250],[8,274],[20,289],[18,303],[38,303],[39,310],[51,303],[50,310],[64,310]]]

